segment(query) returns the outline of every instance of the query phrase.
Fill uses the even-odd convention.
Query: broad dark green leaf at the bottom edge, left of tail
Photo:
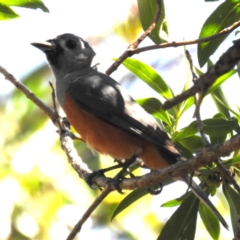
[[[199,199],[193,193],[187,195],[162,229],[157,240],[194,239]]]

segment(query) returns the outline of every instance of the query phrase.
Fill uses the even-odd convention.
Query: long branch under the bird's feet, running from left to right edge
[[[0,72],[3,73],[6,79],[10,82],[13,82],[14,85],[19,86],[19,82],[11,74],[9,74],[5,69],[4,71],[2,69],[3,68],[0,67]],[[14,79],[14,81],[12,81],[12,79]],[[32,94],[23,84],[21,85],[19,90],[22,91],[23,94],[28,96],[28,98],[31,101],[33,101],[34,103],[36,102],[36,105],[39,108],[41,109],[43,108],[47,110],[50,109],[44,103],[42,103],[39,99],[36,99],[36,96]],[[29,92],[31,94],[28,94]],[[39,101],[42,103],[43,106],[39,104]],[[55,117],[55,112],[52,109],[50,109],[50,112],[52,112],[52,116]],[[49,116],[49,114],[47,115]],[[87,165],[83,163],[81,158],[78,156],[68,131],[64,131],[64,133],[61,134],[61,142],[62,142],[63,150],[65,151],[72,167],[75,169],[75,171],[79,174],[81,178],[86,179],[91,173],[91,171],[88,169]],[[179,162],[177,164],[174,164],[172,166],[169,166],[161,170],[152,171],[151,173],[141,177],[124,179],[120,183],[120,188],[123,190],[124,189],[132,190],[136,188],[148,188],[149,186],[152,186],[159,182],[164,182],[172,178],[177,178],[179,176],[192,173],[195,170],[197,170],[199,167],[208,165],[214,162],[219,157],[228,156],[233,151],[239,150],[239,146],[240,146],[240,134],[236,134],[235,136],[225,141],[224,143],[215,144],[215,145],[211,145],[209,147],[204,148],[202,151],[196,154],[196,156],[193,159],[190,159],[184,162]],[[99,187],[104,188],[109,182],[109,178],[104,176],[97,176],[95,177],[95,182]],[[109,184],[109,187],[111,189],[114,189],[113,184]]]

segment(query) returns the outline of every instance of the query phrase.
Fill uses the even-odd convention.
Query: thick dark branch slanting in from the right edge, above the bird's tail
[[[181,93],[180,95],[166,101],[163,109],[169,109],[180,102],[200,92],[200,99],[204,96],[208,88],[218,79],[218,77],[230,71],[240,60],[240,39],[233,42],[230,47],[206,73],[202,74],[194,86]],[[200,101],[198,99],[198,102]]]

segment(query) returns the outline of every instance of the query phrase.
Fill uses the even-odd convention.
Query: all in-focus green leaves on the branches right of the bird
[[[221,32],[223,29],[231,26],[240,20],[239,17],[239,4],[237,0],[227,0],[219,5],[218,8],[206,19],[204,22],[199,39],[211,36]],[[154,10],[156,11],[155,1],[138,1],[139,15],[141,24],[144,30],[151,24],[154,18]],[[155,44],[161,44],[165,40],[161,37],[162,31],[164,36],[168,33],[164,1],[161,1],[162,17],[156,25],[154,31],[149,35],[149,38]],[[210,56],[215,53],[222,42],[228,35],[216,38],[215,40],[199,43],[198,46],[198,61],[202,67],[208,63],[208,67],[212,65],[209,60]],[[131,71],[137,78],[144,81],[150,88],[161,96],[161,98],[145,98],[138,99],[146,111],[153,114],[163,126],[170,133],[172,141],[175,146],[181,151],[183,156],[187,159],[192,158],[199,150],[203,149],[205,143],[199,135],[197,122],[193,121],[188,126],[178,129],[178,122],[183,114],[194,105],[194,98],[190,97],[186,101],[174,106],[172,109],[163,111],[162,102],[160,99],[171,99],[174,97],[173,90],[168,86],[167,81],[151,66],[145,64],[134,58],[128,58],[123,62],[123,65]],[[195,67],[195,71],[200,76],[201,70]],[[204,119],[202,124],[203,132],[208,136],[211,144],[222,143],[234,133],[239,132],[239,112],[233,110],[222,90],[222,84],[228,81],[236,74],[237,70],[231,70],[228,73],[220,76],[215,83],[208,89],[206,95],[210,95],[217,108],[217,112],[212,118]],[[187,88],[188,83],[183,87],[183,91]],[[203,110],[204,111],[204,110]],[[239,174],[239,157],[238,152],[235,152],[232,157],[223,161],[223,165],[229,168],[229,163]],[[230,212],[233,231],[238,229],[237,215],[239,210],[239,195],[229,186],[227,181],[223,181],[220,177],[216,165],[213,163],[211,166],[201,168],[200,170],[201,185],[207,194],[215,195],[216,189],[222,185],[225,199],[227,200]],[[165,185],[163,183],[163,185]],[[116,217],[120,212],[129,207],[138,199],[145,196],[148,192],[146,190],[137,189],[128,194],[125,199],[119,204],[113,213],[112,218]],[[180,200],[171,200],[163,207],[172,207],[180,205],[177,211],[167,221],[164,228],[161,230],[158,240],[164,239],[194,239],[196,231],[197,212],[199,211],[201,219],[209,232],[212,239],[219,239],[220,226],[216,217],[207,209],[199,200],[191,194],[185,194]],[[174,231],[172,231],[174,229]]]

